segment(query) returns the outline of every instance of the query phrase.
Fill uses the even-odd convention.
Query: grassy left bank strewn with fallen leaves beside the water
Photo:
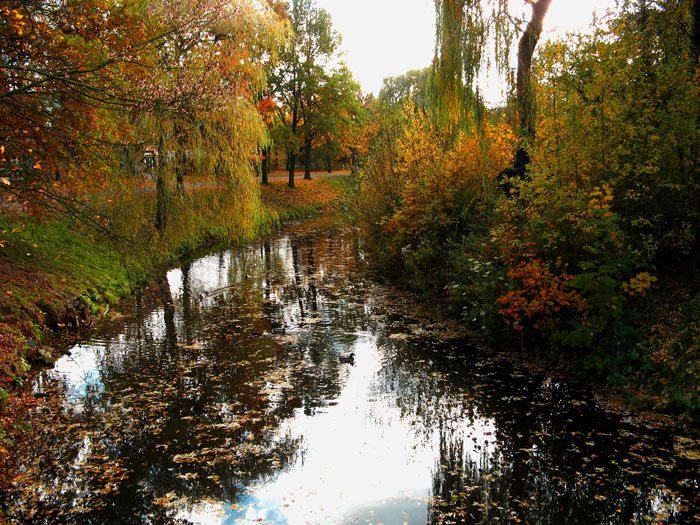
[[[260,187],[263,213],[256,229],[264,232],[282,222],[337,210],[351,187],[350,177],[299,180],[295,189],[273,180]],[[215,189],[191,192],[188,209],[206,206],[210,191]],[[71,217],[37,220],[18,211],[0,214],[0,456],[9,452],[10,434],[33,403],[31,396],[21,394],[27,375],[56,357],[48,336],[83,335],[96,316],[159,269],[204,246],[250,238],[232,238],[225,214],[221,224],[201,224],[196,211],[174,214],[178,222],[167,240],[152,231],[139,234],[153,200],[148,193],[109,199],[115,221],[111,236]]]

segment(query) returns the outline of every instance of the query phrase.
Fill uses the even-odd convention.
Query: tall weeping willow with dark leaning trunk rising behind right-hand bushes
[[[523,174],[529,162],[527,144],[535,133],[531,88],[532,57],[552,0],[523,0],[532,8],[518,45],[516,104],[520,143],[514,168]],[[433,64],[433,93],[440,113],[450,123],[465,117],[479,101],[476,79],[484,66],[504,73],[510,66],[510,49],[517,24],[512,24],[508,0],[435,0],[437,34]],[[494,53],[487,47],[494,46]]]

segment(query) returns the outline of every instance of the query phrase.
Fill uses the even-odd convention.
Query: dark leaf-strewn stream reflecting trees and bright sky
[[[680,443],[473,348],[374,282],[352,228],[168,272],[34,389],[17,523],[698,520]]]

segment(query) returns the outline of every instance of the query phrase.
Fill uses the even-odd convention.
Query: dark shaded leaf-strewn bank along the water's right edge
[[[388,252],[380,251],[376,257],[386,257]],[[415,257],[411,253],[407,255]],[[466,259],[464,254],[459,256]],[[667,276],[655,283],[654,293],[635,305],[628,324],[623,325],[626,335],[632,334],[633,343],[620,345],[613,333],[595,346],[574,350],[564,345],[548,345],[532,331],[513,334],[495,316],[489,326],[486,322],[480,326],[476,322],[486,319],[485,312],[493,304],[480,297],[481,302],[475,300],[470,305],[476,313],[465,315],[463,298],[444,292],[453,289],[450,282],[455,279],[455,273],[441,268],[426,278],[425,265],[407,264],[405,260],[404,264],[397,264],[396,260],[383,261],[388,277],[426,302],[441,304],[452,315],[461,317],[474,340],[510,354],[522,366],[585,383],[593,391],[596,402],[609,412],[663,427],[669,433],[698,436],[700,281],[696,274]],[[477,280],[462,282],[479,286]]]

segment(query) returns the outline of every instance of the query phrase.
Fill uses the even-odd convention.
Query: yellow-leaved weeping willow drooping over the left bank
[[[142,81],[137,122],[158,153],[156,228],[164,231],[173,193],[184,177],[213,177],[235,195],[240,217],[257,200],[252,176],[265,126],[254,103],[265,85],[264,60],[284,38],[285,24],[255,0],[177,0],[155,4],[165,35]]]

